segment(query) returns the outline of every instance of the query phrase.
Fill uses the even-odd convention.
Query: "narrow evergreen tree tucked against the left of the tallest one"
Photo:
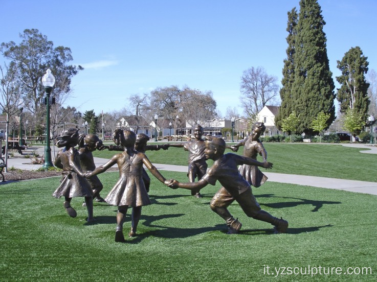
[[[293,97],[292,97],[292,84],[295,77],[295,38],[296,38],[296,26],[298,21],[298,14],[296,7],[293,8],[288,13],[288,23],[286,31],[288,36],[286,37],[286,42],[288,47],[286,49],[286,59],[284,59],[283,67],[283,79],[281,84],[283,87],[280,88],[280,99],[281,106],[278,114],[275,117],[275,124],[281,130],[282,120],[290,115],[293,111]]]

